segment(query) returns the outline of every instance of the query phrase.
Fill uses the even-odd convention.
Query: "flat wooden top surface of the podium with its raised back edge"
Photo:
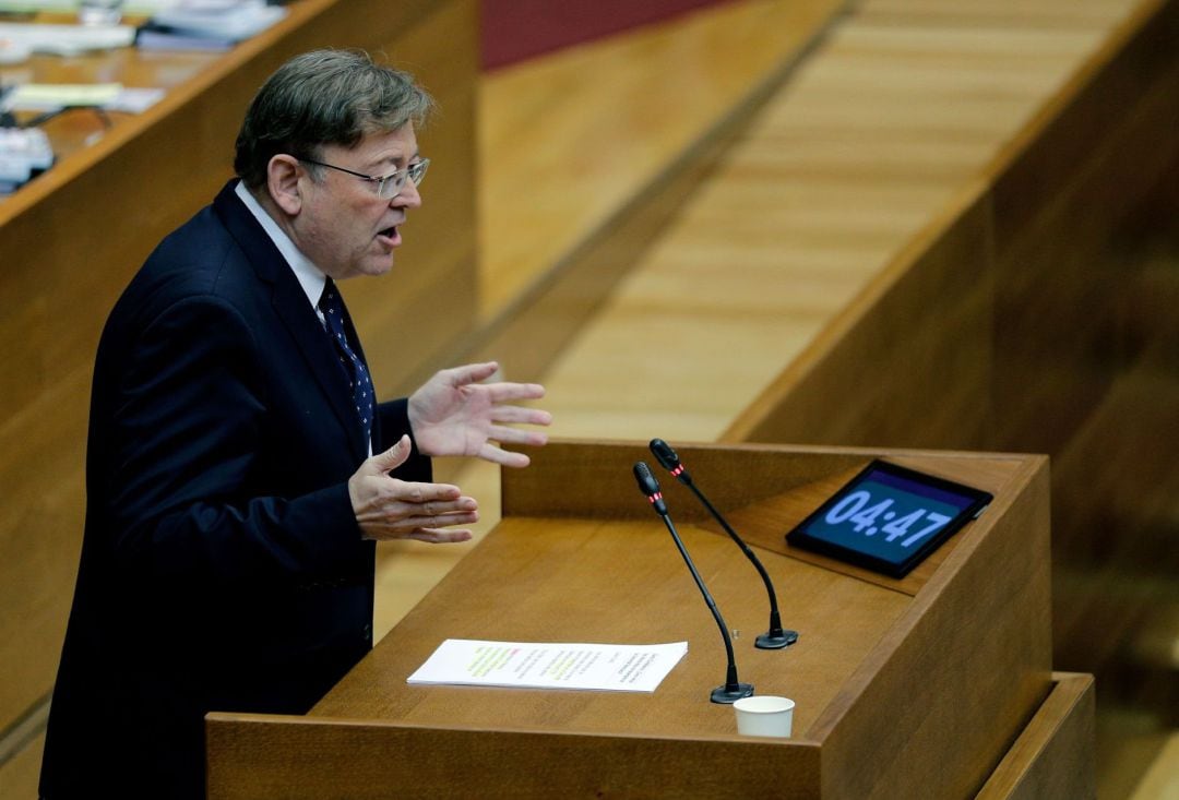
[[[903,668],[909,656],[900,657],[898,652],[909,647],[933,609],[1006,602],[1002,581],[993,587],[992,601],[971,593],[962,600],[942,595],[971,560],[1028,560],[1030,554],[1016,548],[975,551],[1046,472],[1040,456],[757,445],[677,449],[696,484],[755,546],[773,580],[783,626],[799,632],[798,642],[784,650],[755,648],[755,637],[769,622],[759,576],[689,490],[661,474],[672,518],[735,633],[739,677],[753,683],[757,694],[795,699],[795,743],[822,742],[882,673]],[[709,701],[711,689],[725,681],[725,649],[716,621],[631,476],[635,461],[654,463],[650,452],[635,444],[568,442],[533,455],[527,470],[505,472],[501,523],[312,709],[312,716],[476,730],[736,738],[733,710]],[[900,581],[791,550],[783,538],[790,527],[876,456],[979,487],[995,501]],[[687,641],[689,652],[653,694],[408,686],[408,675],[444,639]],[[1029,649],[1043,662],[1047,686],[1045,647]],[[920,680],[936,685],[938,670],[953,669],[950,663],[934,665],[933,674]]]

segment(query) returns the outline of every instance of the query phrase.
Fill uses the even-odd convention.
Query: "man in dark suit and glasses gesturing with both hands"
[[[119,299],[94,370],[87,509],[46,798],[203,796],[204,714],[305,713],[373,643],[374,541],[465,541],[430,456],[522,467],[535,384],[444,370],[374,403],[335,282],[393,266],[429,97],[365,55],[259,90],[231,181]],[[408,345],[407,345],[408,346]],[[376,454],[376,455],[373,455]]]

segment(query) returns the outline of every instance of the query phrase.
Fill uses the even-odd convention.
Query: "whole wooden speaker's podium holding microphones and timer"
[[[307,716],[211,714],[210,798],[1092,796],[1092,681],[1053,675],[1042,456],[677,445],[759,550],[753,567],[657,467],[736,633],[742,681],[797,702],[793,738],[737,734],[709,701],[717,626],[631,467],[641,443],[555,442],[505,470],[502,521]],[[994,494],[903,580],[784,534],[875,456]],[[408,686],[442,640],[657,643],[689,652],[653,694]]]

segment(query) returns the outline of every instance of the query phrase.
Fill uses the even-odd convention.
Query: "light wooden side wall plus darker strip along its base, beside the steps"
[[[461,357],[545,370],[844,5],[726,4],[489,79],[487,324]]]

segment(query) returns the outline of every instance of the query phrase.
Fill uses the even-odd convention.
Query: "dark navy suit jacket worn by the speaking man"
[[[206,712],[305,713],[370,649],[374,544],[347,487],[367,443],[349,397],[230,184],[159,245],[103,332],[45,796],[203,796]],[[381,404],[374,452],[403,432],[406,402]],[[429,475],[416,447],[396,474]]]

